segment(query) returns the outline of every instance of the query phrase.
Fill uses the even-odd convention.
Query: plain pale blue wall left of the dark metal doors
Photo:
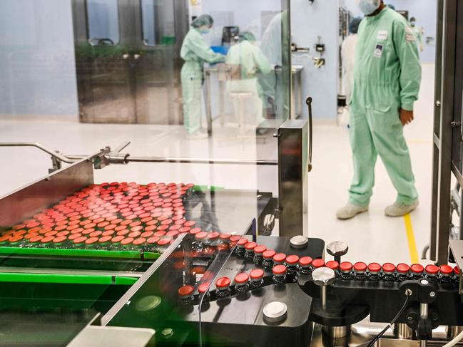
[[[0,1],[0,113],[77,118],[70,0]]]

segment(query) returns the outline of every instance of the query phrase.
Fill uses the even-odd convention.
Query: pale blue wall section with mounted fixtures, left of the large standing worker
[[[338,9],[337,0],[315,0],[313,4],[307,0],[291,1],[292,42],[310,48],[312,56],[317,56],[317,36],[326,46],[326,65],[320,69],[314,67],[310,58],[297,53],[292,56],[293,64],[304,66],[302,95],[312,96],[315,118],[335,120],[337,116]],[[305,106],[303,110],[307,117]]]

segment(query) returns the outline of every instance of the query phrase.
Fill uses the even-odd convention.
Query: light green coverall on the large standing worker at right
[[[418,192],[399,111],[413,110],[418,98],[422,72],[416,37],[404,17],[385,8],[360,24],[356,56],[350,102],[350,202],[362,207],[370,203],[380,155],[397,190],[397,202],[412,204]]]

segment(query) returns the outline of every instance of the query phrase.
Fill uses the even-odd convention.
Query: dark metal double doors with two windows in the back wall
[[[180,124],[183,0],[73,0],[83,123]]]

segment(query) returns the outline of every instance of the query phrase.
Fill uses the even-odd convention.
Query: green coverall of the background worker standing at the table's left
[[[181,72],[183,118],[186,130],[193,134],[201,124],[204,63],[221,63],[225,61],[225,56],[215,53],[205,43],[198,28],[190,29],[185,36],[180,56],[185,61]]]

